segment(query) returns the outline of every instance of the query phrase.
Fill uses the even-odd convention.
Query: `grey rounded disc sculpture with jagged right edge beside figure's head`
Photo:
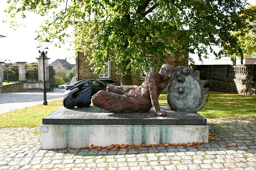
[[[200,80],[199,71],[178,66],[173,69],[173,80],[168,86],[167,101],[170,108],[177,112],[197,112],[208,101],[206,92],[209,88],[203,88],[206,80]]]

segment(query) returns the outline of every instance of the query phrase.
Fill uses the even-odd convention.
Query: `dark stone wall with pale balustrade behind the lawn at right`
[[[211,91],[256,95],[256,65],[196,65]]]

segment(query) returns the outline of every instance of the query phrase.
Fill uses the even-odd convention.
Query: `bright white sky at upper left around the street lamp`
[[[36,58],[39,58],[40,54],[36,50],[35,38],[37,36],[36,30],[42,25],[44,18],[30,13],[26,19],[17,20],[24,24],[20,26],[16,31],[10,28],[8,23],[3,23],[2,20],[6,18],[5,12],[3,12],[8,5],[5,0],[0,1],[0,35],[6,36],[0,38],[0,61],[10,60],[15,62],[37,62]],[[69,43],[62,45],[61,48],[55,47],[53,43],[49,44],[49,51],[47,57],[50,58],[49,63],[54,62],[57,59],[65,59],[70,64],[75,64],[75,58],[73,51],[68,51]]]

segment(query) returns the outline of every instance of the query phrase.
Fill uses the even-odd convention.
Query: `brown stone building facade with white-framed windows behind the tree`
[[[179,51],[179,50],[178,50]],[[180,52],[177,52],[175,55],[169,55],[166,54],[166,59],[164,63],[168,63],[174,67],[177,67],[179,65],[182,66],[187,66],[188,67],[188,54],[186,55],[187,57],[183,60],[180,61],[180,56],[182,54]],[[157,58],[154,58],[157,60]],[[159,61],[159,60],[157,60]],[[159,72],[162,64],[164,63],[159,63],[155,65],[153,68],[150,68],[151,71]],[[117,83],[121,82],[121,75],[116,74],[116,69],[114,68],[114,63],[110,63],[109,72],[106,73],[106,75],[99,75],[99,74],[94,74],[94,70],[91,70],[91,65],[89,65],[89,61],[87,60],[87,56],[84,55],[83,53],[78,53],[78,56],[76,58],[76,81],[78,80],[85,80],[85,79],[111,79]],[[132,75],[132,85],[141,85],[145,79],[146,73],[142,73],[138,70],[136,74]]]

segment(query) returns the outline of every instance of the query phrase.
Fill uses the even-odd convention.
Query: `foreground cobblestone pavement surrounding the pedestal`
[[[208,119],[212,137],[194,147],[126,150],[41,150],[36,128],[0,129],[0,169],[245,169],[256,168],[256,117]]]

